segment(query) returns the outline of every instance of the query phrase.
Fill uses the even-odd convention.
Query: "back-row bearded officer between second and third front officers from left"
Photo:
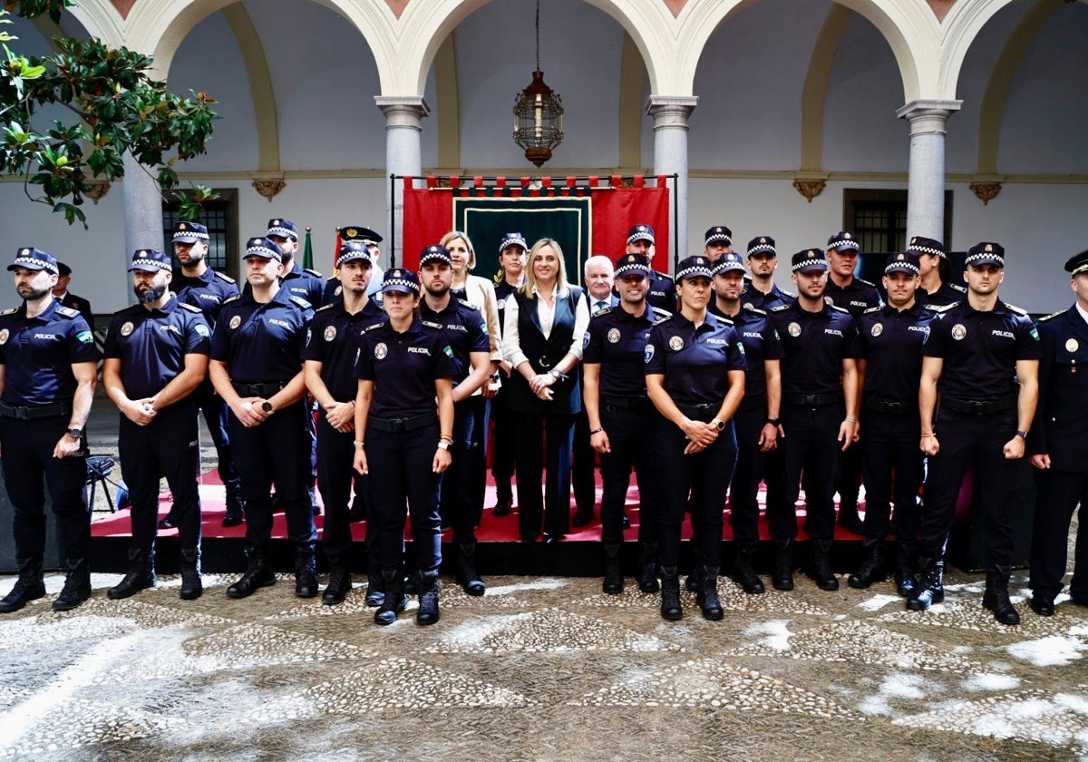
[[[234,279],[208,267],[205,258],[208,256],[208,229],[199,222],[178,222],[174,226],[174,256],[181,267],[173,272],[171,290],[182,304],[193,305],[199,309],[209,328],[215,328],[219,311],[223,303],[238,295],[238,286]],[[231,452],[231,437],[226,431],[226,420],[230,415],[222,397],[215,394],[211,379],[205,379],[193,398],[203,413],[205,423],[211,433],[212,444],[219,459],[219,478],[226,491],[226,514],[223,516],[224,527],[236,527],[244,517],[242,504],[242,479],[238,467],[234,465],[234,454]],[[160,529],[177,526],[173,508],[160,521]]]

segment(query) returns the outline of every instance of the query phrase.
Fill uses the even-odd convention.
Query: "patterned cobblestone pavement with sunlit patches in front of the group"
[[[1019,627],[950,575],[908,613],[891,583],[745,595],[726,619],[664,622],[656,595],[590,578],[444,580],[442,620],[415,601],[379,627],[357,586],[339,606],[289,577],[245,601],[206,576],[53,613],[0,618],[0,759],[997,760],[1088,759],[1088,609],[1014,599]],[[0,591],[12,578],[0,579]]]

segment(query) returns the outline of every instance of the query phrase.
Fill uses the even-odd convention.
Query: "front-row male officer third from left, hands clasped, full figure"
[[[231,441],[246,500],[249,565],[226,594],[245,598],[275,582],[268,556],[274,483],[295,543],[295,594],[313,598],[317,530],[306,494],[310,441],[301,358],[313,310],[281,286],[283,255],[274,241],[250,238],[245,263],[249,288],[223,305],[209,370],[231,408]]]

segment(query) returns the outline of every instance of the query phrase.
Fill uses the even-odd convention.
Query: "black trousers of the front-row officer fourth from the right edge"
[[[772,539],[792,540],[798,536],[795,506],[801,493],[802,472],[807,507],[805,531],[814,540],[834,537],[834,486],[842,462],[842,443],[836,438],[842,418],[840,404],[782,406],[786,495],[781,505],[774,505],[774,511],[771,504],[767,506]]]

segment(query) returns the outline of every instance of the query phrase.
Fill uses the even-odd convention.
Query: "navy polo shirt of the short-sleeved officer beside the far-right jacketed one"
[[[922,354],[944,359],[937,386],[942,395],[993,402],[1019,391],[1016,361],[1040,359],[1042,347],[1024,310],[998,299],[980,312],[964,299],[930,325]]]

